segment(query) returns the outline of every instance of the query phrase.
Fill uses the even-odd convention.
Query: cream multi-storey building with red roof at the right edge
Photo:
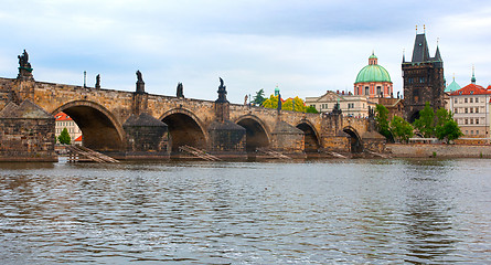
[[[491,89],[477,85],[473,74],[469,85],[450,93],[450,110],[465,137],[489,138],[490,99]]]

